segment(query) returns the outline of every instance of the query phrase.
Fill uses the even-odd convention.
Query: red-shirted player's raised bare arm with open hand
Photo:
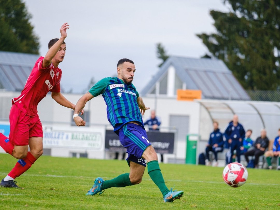
[[[67,23],[64,23],[60,28],[60,34],[61,34],[60,39],[48,50],[48,52],[46,53],[43,59],[43,63],[42,63],[43,68],[47,67],[52,63],[53,57],[56,55],[64,39],[67,37],[66,29],[69,29],[69,25]]]

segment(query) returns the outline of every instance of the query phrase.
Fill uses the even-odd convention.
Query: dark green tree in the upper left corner
[[[25,3],[0,0],[0,50],[39,54],[39,39],[30,18]]]

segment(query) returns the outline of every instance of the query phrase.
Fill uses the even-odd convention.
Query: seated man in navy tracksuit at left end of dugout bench
[[[206,165],[211,165],[209,162],[209,151],[213,152],[215,155],[215,164],[214,166],[218,165],[218,152],[223,151],[223,134],[220,132],[220,129],[218,128],[219,123],[214,121],[213,122],[214,131],[210,134],[208,144],[206,145]]]

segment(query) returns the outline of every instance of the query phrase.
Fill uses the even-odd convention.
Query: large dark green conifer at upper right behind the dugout
[[[280,89],[280,1],[224,0],[230,11],[210,11],[217,32],[197,34],[245,89]]]

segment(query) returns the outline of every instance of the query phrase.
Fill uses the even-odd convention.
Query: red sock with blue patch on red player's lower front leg
[[[18,160],[15,167],[11,170],[8,176],[12,177],[13,179],[19,177],[25,171],[30,169],[31,165],[34,164],[36,160],[37,159],[34,158],[34,156],[30,152],[28,152],[25,158]]]

